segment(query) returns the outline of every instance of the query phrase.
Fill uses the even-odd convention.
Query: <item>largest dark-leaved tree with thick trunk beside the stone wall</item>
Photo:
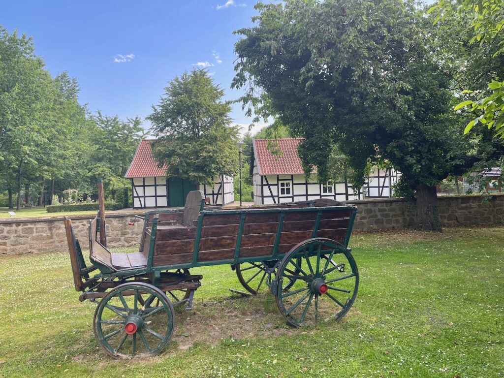
[[[256,26],[238,30],[234,87],[243,101],[304,137],[305,173],[330,174],[335,148],[363,184],[369,163],[403,173],[419,227],[440,230],[436,184],[481,156],[463,137],[450,90],[455,68],[413,1],[293,0],[257,4]]]

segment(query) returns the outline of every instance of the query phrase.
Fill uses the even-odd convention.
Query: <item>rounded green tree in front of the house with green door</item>
[[[237,167],[238,129],[231,125],[224,91],[205,70],[176,76],[147,117],[152,122],[153,155],[167,176],[213,183]]]

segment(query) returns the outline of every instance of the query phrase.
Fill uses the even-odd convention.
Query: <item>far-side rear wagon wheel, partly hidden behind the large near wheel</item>
[[[269,286],[271,279],[275,277],[278,260],[247,262],[236,264],[236,276],[241,285],[252,294],[257,294],[262,287]],[[294,272],[292,273],[294,274]],[[292,286],[294,282],[287,280],[284,290]]]

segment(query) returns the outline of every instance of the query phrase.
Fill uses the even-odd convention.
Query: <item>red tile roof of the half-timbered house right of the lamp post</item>
[[[278,148],[281,156],[272,154],[268,150],[268,141],[265,139],[254,140],[254,156],[258,164],[260,175],[265,174],[298,174],[304,173],[301,159],[297,155],[297,146],[302,139],[278,139]]]

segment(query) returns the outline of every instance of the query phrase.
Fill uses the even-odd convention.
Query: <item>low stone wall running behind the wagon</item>
[[[483,203],[480,196],[438,197],[439,217],[443,226],[504,224],[504,195],[494,195]],[[415,223],[414,202],[402,199],[350,201],[358,207],[355,230],[411,227]],[[88,246],[90,216],[71,217],[81,247]],[[143,222],[129,226],[133,214],[107,215],[109,246],[137,244]],[[23,254],[68,250],[62,217],[36,219],[0,219],[0,254]],[[86,253],[86,252],[85,252]]]

